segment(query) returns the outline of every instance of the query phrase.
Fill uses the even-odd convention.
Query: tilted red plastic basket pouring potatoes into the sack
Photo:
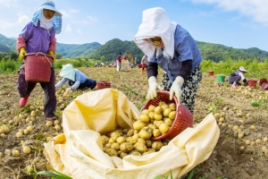
[[[147,109],[150,105],[154,105],[155,107],[157,107],[159,106],[160,101],[164,101],[167,104],[175,103],[177,107],[177,114],[170,130],[163,135],[151,138],[151,140],[172,140],[175,136],[180,134],[180,132],[183,132],[186,128],[193,127],[194,121],[192,113],[188,110],[187,107],[181,104],[179,105],[179,102],[175,96],[172,100],[170,100],[170,92],[168,91],[157,92],[157,97],[152,100],[148,100],[142,110]]]

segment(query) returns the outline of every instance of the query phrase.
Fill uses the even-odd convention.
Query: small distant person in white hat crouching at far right
[[[244,82],[245,86],[247,86],[247,79],[244,76],[244,73],[246,72],[247,70],[244,68],[244,66],[240,66],[238,71],[232,72],[229,76],[229,83],[231,84],[230,87],[235,89],[237,88],[237,85],[240,86],[240,80]]]

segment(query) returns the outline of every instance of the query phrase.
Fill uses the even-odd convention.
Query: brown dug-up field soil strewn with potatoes
[[[123,70],[116,72],[115,68],[80,68],[88,75],[88,78],[96,81],[112,81],[112,87],[123,91],[126,96],[138,108],[142,107],[147,94],[147,76],[141,74],[140,69],[134,68],[130,71]],[[59,71],[57,71],[58,74]],[[162,75],[160,72],[159,77]],[[58,76],[58,75],[57,75]],[[158,78],[160,80],[160,78]],[[0,178],[33,178],[34,170],[46,170],[46,158],[42,153],[43,143],[47,138],[56,136],[63,132],[63,129],[46,126],[42,106],[44,103],[44,93],[38,85],[33,90],[28,105],[19,107],[20,97],[16,90],[17,75],[1,75],[0,82],[0,125],[7,125],[10,132],[2,133],[0,136]],[[60,81],[57,77],[56,81]],[[63,89],[67,87],[64,86]],[[64,90],[57,90],[57,120],[62,120],[64,107],[78,95],[91,90],[78,90],[71,96],[64,95]],[[96,89],[95,89],[96,90]],[[205,162],[196,166],[193,178],[268,178],[267,158],[268,151],[264,149],[268,142],[264,142],[264,137],[268,137],[267,118],[268,111],[264,107],[252,107],[250,102],[253,99],[264,98],[267,104],[267,92],[260,88],[239,88],[231,90],[230,86],[223,82],[218,86],[217,76],[209,76],[203,73],[203,81],[200,83],[196,98],[194,113],[195,123],[199,123],[209,113],[220,113],[222,119],[217,119],[221,129],[221,135],[214,152]],[[30,118],[30,111],[36,111],[37,116]],[[20,116],[18,120],[15,116]],[[215,115],[216,116],[216,115]],[[220,122],[220,120],[222,122]],[[19,130],[24,130],[32,125],[33,131],[16,137]],[[239,129],[233,131],[232,126],[238,125]],[[254,125],[255,129],[250,129]],[[244,137],[239,139],[238,134],[244,132]],[[1,133],[1,132],[0,132]],[[255,141],[247,145],[246,141]],[[21,146],[29,145],[31,153],[24,154]],[[13,157],[13,150],[21,152],[19,157]],[[48,178],[39,176],[38,178]],[[185,176],[184,178],[187,178]]]

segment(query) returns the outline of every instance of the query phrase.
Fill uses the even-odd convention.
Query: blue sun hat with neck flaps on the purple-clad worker
[[[35,26],[38,25],[38,20],[40,17],[40,14],[43,12],[43,9],[48,9],[54,11],[54,16],[52,18],[53,28],[56,34],[61,33],[62,31],[62,16],[63,14],[60,13],[54,5],[54,2],[46,0],[43,4],[41,4],[40,8],[36,13],[34,13],[32,17],[32,22]]]

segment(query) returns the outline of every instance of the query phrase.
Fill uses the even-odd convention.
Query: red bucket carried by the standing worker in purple
[[[52,55],[31,53],[25,55],[25,80],[28,82],[49,82]]]

